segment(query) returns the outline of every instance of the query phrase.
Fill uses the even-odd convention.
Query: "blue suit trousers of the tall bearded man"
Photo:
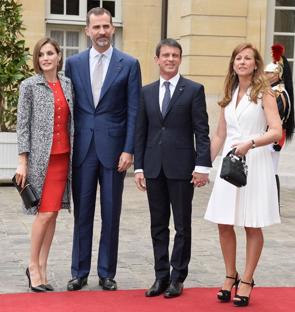
[[[118,258],[119,220],[126,172],[105,168],[95,152],[94,135],[79,167],[73,167],[74,237],[71,273],[89,275],[97,182],[100,186],[101,233],[97,274],[114,278]]]

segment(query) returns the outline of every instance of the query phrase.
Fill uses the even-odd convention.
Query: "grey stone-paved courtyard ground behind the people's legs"
[[[220,287],[225,270],[214,223],[203,219],[212,184],[195,190],[192,215],[192,257],[185,287]],[[91,272],[85,290],[98,286],[96,261],[100,233],[99,192],[94,220]],[[14,187],[0,187],[0,293],[28,292],[25,270],[29,263],[29,238],[33,216],[21,212]],[[254,280],[258,286],[295,287],[295,189],[281,189],[281,224],[264,229],[265,246]],[[71,278],[73,214],[59,213],[56,234],[48,261],[48,281],[56,291],[66,291]],[[171,247],[174,236],[171,221]],[[245,232],[236,228],[237,269],[243,273]],[[147,194],[139,191],[133,174],[127,173],[116,275],[119,289],[146,289],[154,281],[153,252],[149,233]]]

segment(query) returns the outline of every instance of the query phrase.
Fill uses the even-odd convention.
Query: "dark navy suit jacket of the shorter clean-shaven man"
[[[180,76],[163,119],[159,84],[158,80],[142,88],[134,169],[143,169],[145,178],[152,179],[163,166],[169,179],[191,179],[195,165],[212,166],[204,86]]]

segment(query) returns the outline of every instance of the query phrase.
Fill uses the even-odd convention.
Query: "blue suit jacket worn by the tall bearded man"
[[[89,50],[66,60],[65,76],[72,80],[74,106],[73,166],[83,162],[94,131],[95,149],[101,163],[109,169],[118,167],[122,152],[133,154],[136,114],[141,89],[139,62],[114,48],[109,68],[94,107]]]

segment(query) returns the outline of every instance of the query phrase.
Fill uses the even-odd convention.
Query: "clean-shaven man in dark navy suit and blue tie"
[[[181,54],[174,39],[158,44],[154,59],[160,80],[143,87],[137,114],[135,183],[148,193],[156,275],[148,297],[164,292],[174,298],[182,292],[191,254],[194,187],[209,183],[212,166],[204,87],[179,75]],[[170,205],[176,235],[169,261]]]

